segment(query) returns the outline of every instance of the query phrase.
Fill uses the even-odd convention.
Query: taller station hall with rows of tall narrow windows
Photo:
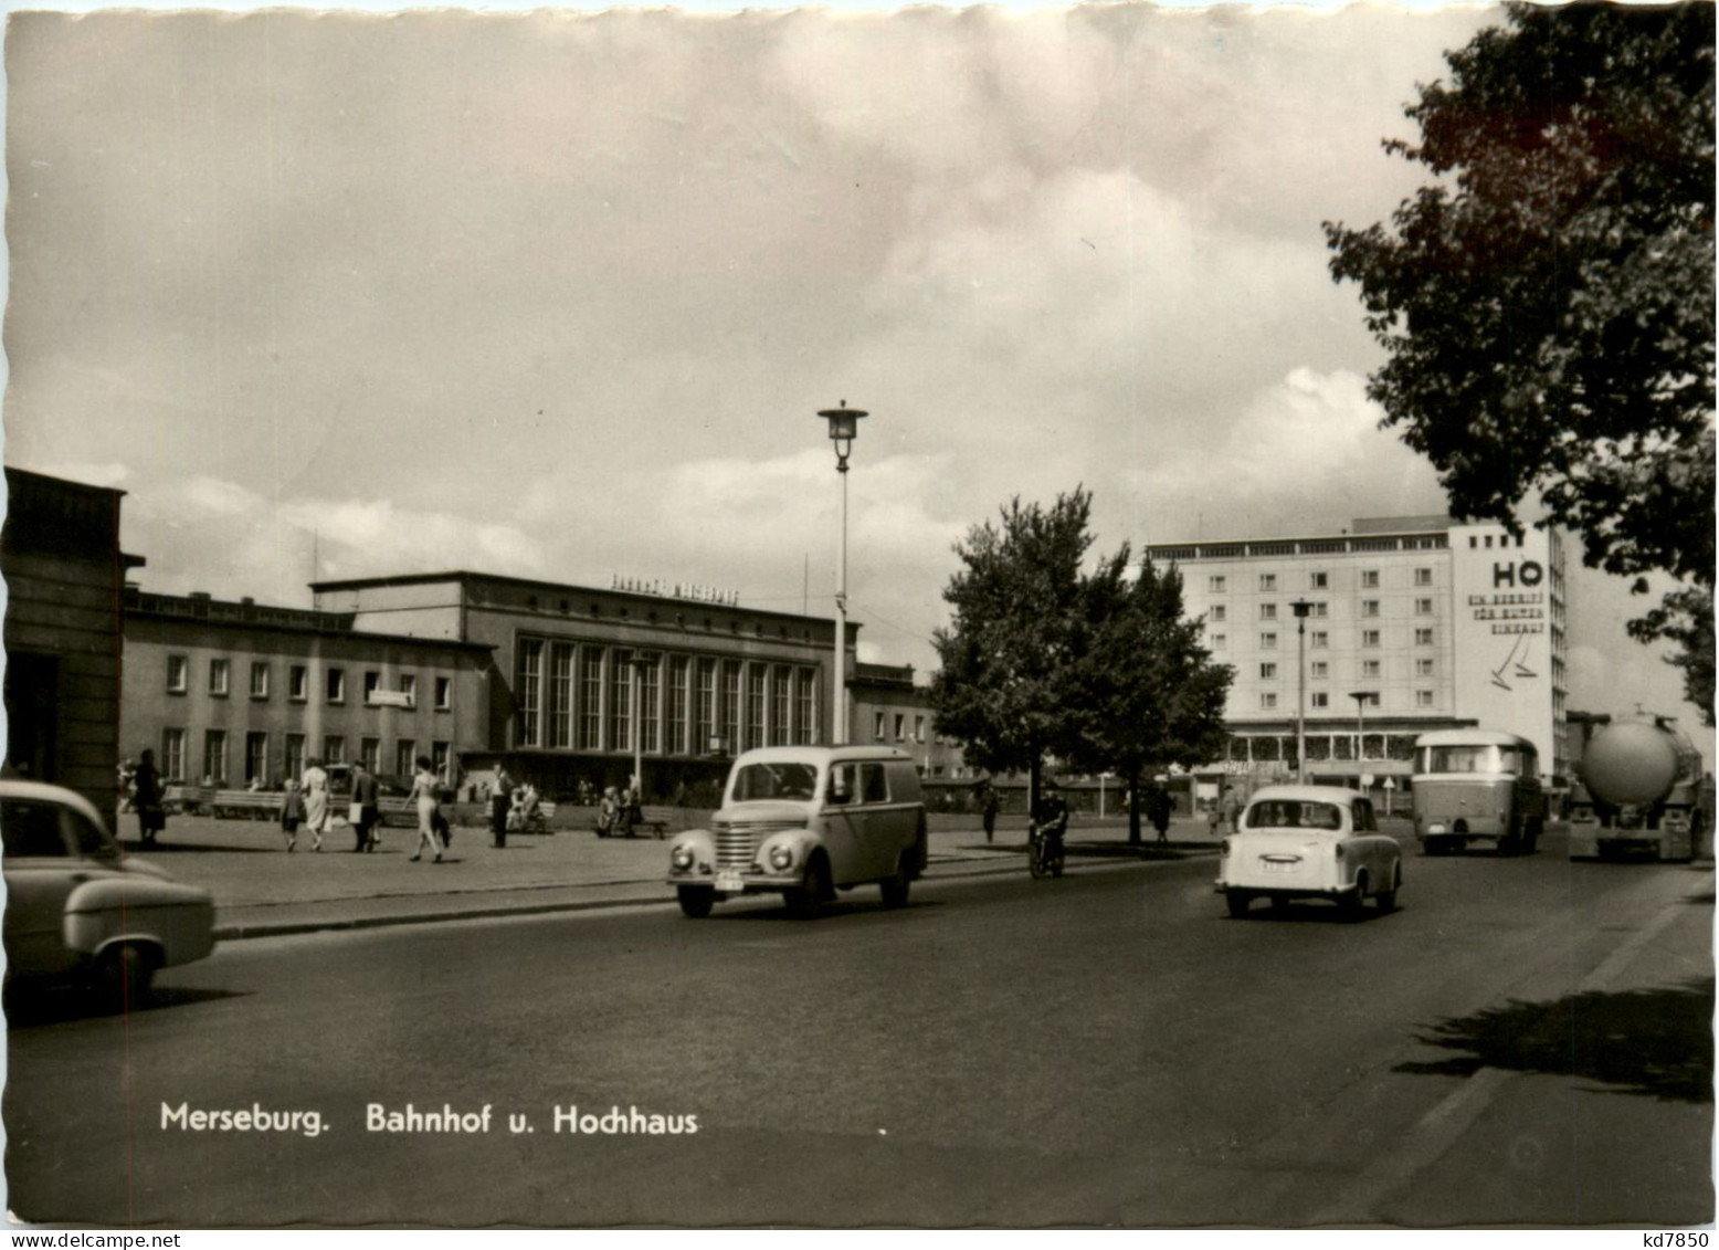
[[[554,794],[626,784],[638,763],[646,801],[689,791],[708,800],[739,751],[832,739],[827,619],[674,588],[466,571],[320,581],[311,591],[356,631],[492,653],[468,774],[505,765]],[[858,629],[847,628],[849,672]]]

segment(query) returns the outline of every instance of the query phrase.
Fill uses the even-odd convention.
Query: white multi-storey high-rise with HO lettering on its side
[[[1415,738],[1461,726],[1521,734],[1547,781],[1569,775],[1557,531],[1382,518],[1145,555],[1178,566],[1188,616],[1236,672],[1215,770],[1293,775],[1300,712],[1310,779],[1403,787]]]

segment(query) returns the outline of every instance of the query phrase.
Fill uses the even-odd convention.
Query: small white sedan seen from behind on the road
[[[1403,887],[1403,851],[1379,832],[1365,794],[1334,786],[1267,786],[1253,794],[1239,827],[1224,839],[1217,892],[1229,915],[1267,898],[1331,899],[1358,911],[1372,896],[1380,911],[1396,908]]]

